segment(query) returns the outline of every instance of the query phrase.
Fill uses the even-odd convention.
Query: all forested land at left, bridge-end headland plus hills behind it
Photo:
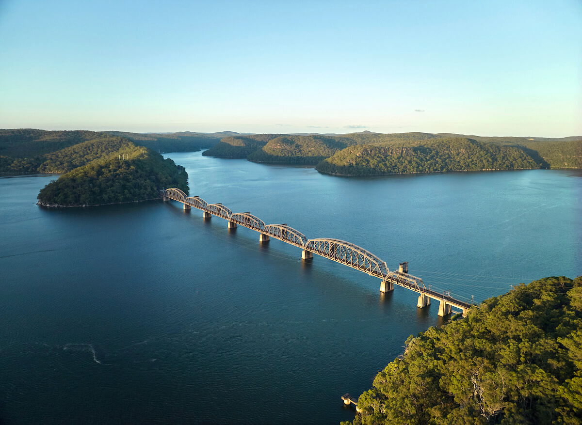
[[[187,173],[171,159],[125,137],[93,131],[1,130],[0,173],[63,173],[38,194],[39,205],[90,206],[188,191]]]

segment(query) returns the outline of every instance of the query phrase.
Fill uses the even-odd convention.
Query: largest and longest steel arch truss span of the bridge
[[[364,248],[350,244],[350,242],[327,238],[310,239],[305,249],[353,269],[368,273],[370,276],[384,279],[390,273],[384,261]]]

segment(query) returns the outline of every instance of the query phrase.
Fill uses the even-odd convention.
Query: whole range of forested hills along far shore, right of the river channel
[[[480,137],[364,131],[225,137],[203,155],[315,165],[341,176],[473,170],[582,168],[582,137]]]

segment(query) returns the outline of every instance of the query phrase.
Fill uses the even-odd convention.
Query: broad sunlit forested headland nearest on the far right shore
[[[521,149],[467,138],[357,145],[336,152],[317,169],[344,176],[539,168]]]

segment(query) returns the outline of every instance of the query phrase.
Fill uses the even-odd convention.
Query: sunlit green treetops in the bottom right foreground
[[[582,277],[547,277],[406,341],[354,424],[582,423]]]

